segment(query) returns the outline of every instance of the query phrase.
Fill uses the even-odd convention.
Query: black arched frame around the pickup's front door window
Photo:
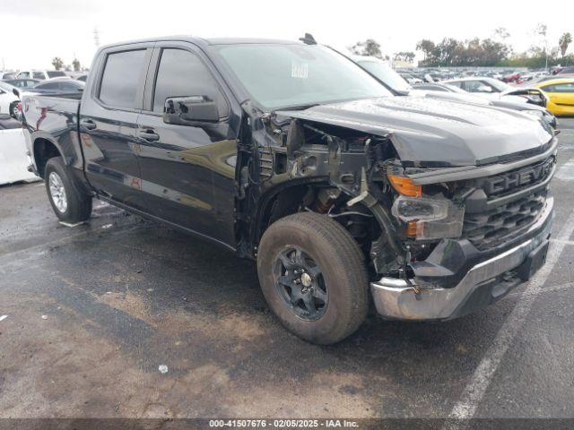
[[[155,97],[155,85],[157,82],[158,73],[160,71],[161,55],[163,54],[163,51],[165,49],[179,49],[182,51],[187,51],[192,56],[196,56],[196,58],[202,64],[204,64],[205,70],[207,70],[207,72],[210,73],[210,75],[212,76],[213,82],[215,82],[215,84],[217,85],[217,90],[222,95],[222,99],[227,107],[226,109],[227,115],[220,116],[219,123],[229,120],[231,115],[231,105],[229,97],[222,86],[222,82],[220,82],[218,76],[215,73],[213,73],[212,67],[204,60],[204,57],[201,55],[201,52],[198,49],[194,49],[194,47],[195,45],[190,45],[187,43],[184,44],[181,42],[178,43],[176,41],[156,44],[156,46],[153,48],[152,60],[148,69],[147,79],[145,81],[145,90],[144,90],[143,107],[142,107],[143,115],[160,116],[160,117],[163,116],[162,113],[153,111],[153,99]]]

